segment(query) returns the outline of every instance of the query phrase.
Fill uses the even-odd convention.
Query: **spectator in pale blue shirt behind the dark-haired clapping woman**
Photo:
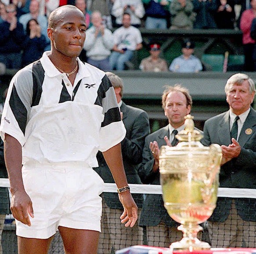
[[[38,24],[41,27],[41,33],[44,35],[46,39],[47,46],[45,47],[45,50],[50,49],[50,39],[48,38],[47,35],[47,26],[48,26],[48,21],[45,15],[41,15],[39,13],[39,2],[37,0],[31,0],[29,4],[29,13],[23,14],[19,18],[19,22],[23,25],[24,30],[26,31],[27,28],[27,23],[31,19],[36,19]]]

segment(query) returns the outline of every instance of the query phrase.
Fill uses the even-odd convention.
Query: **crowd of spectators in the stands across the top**
[[[129,69],[135,50],[143,47],[140,28],[241,29],[244,71],[256,70],[256,40],[251,33],[256,0],[0,0],[0,62],[5,68],[20,69],[50,49],[48,16],[65,4],[75,5],[84,13],[88,30],[80,59],[104,71]],[[159,44],[151,41],[148,47],[155,43]],[[160,54],[159,47],[149,50],[150,59],[158,54],[151,52],[155,49]],[[193,48],[187,51],[192,52]],[[196,59],[192,53],[185,58]],[[184,52],[180,58],[186,60]],[[194,67],[187,68],[188,64],[183,70],[176,63],[179,59],[174,59],[167,70],[194,72]],[[196,61],[198,72],[202,68],[200,60]],[[142,66],[143,62],[140,69],[152,71]],[[166,71],[165,67],[153,69]]]

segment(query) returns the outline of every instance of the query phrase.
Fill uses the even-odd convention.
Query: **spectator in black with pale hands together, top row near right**
[[[217,0],[218,9],[215,13],[215,21],[219,29],[234,29],[235,11],[234,0]]]

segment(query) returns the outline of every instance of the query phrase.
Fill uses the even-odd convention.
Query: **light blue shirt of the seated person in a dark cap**
[[[185,59],[183,55],[176,57],[169,67],[171,72],[199,72],[202,69],[201,61],[193,55],[188,59]]]

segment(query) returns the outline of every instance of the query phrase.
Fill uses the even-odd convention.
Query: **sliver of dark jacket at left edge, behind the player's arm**
[[[7,178],[7,171],[4,163],[4,142],[0,138],[0,178]],[[10,199],[8,188],[0,187],[0,214],[10,214]]]

